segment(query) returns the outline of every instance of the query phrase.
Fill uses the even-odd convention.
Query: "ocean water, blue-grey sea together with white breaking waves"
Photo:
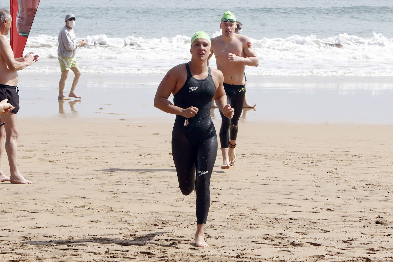
[[[165,74],[190,59],[195,31],[220,35],[227,10],[259,57],[247,75],[393,76],[391,0],[42,0],[25,48],[40,60],[25,70],[58,72],[57,34],[72,12],[88,42],[77,50],[83,72]]]

